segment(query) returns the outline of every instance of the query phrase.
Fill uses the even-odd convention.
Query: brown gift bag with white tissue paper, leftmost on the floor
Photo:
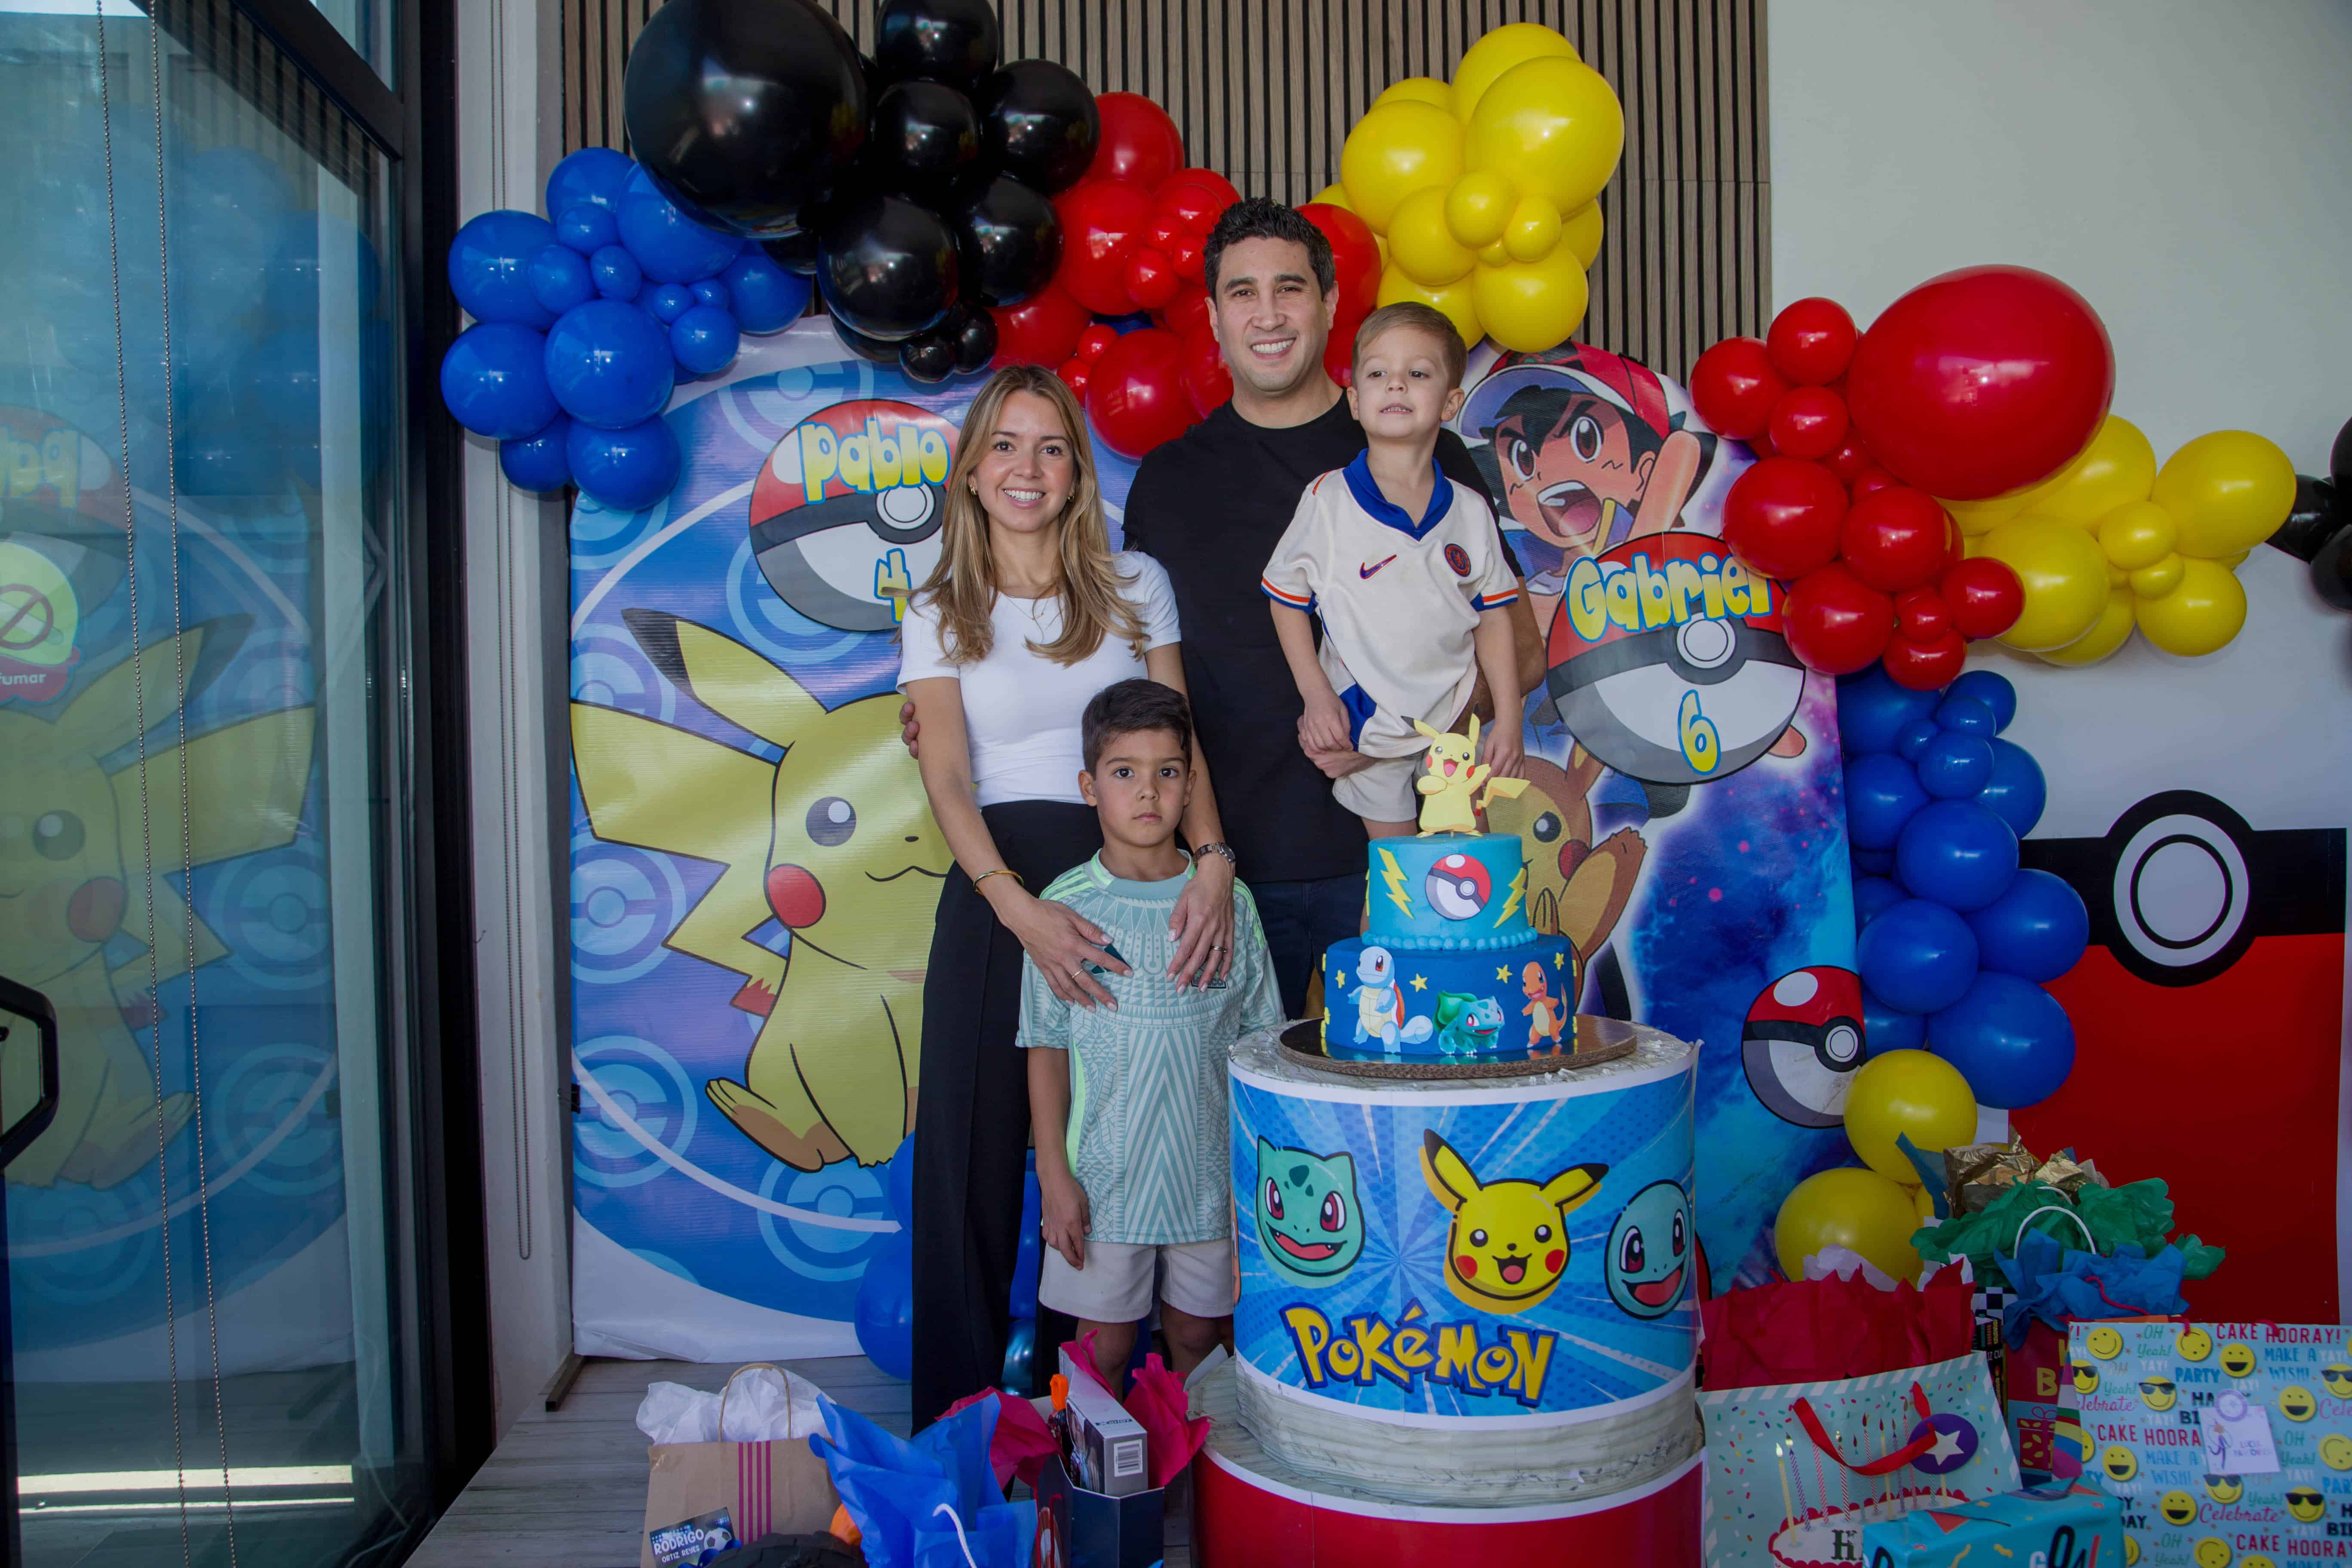
[[[727,1378],[769,1366],[755,1361]],[[769,1371],[776,1371],[769,1366]],[[720,1422],[724,1425],[724,1392]],[[654,1443],[644,1483],[640,1568],[706,1563],[769,1533],[814,1535],[833,1521],[840,1497],[804,1439],[771,1443]]]

